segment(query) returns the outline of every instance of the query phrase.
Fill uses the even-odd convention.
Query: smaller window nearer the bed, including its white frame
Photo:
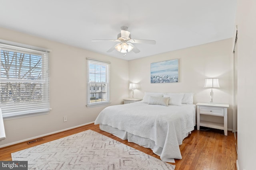
[[[109,77],[110,63],[87,58],[87,107],[110,103]]]

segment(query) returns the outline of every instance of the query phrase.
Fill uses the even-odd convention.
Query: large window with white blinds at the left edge
[[[0,107],[3,117],[50,111],[49,51],[6,42],[9,41],[0,41]]]

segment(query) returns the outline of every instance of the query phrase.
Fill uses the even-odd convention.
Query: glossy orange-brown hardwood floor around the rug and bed
[[[88,129],[96,131],[102,135],[108,136],[116,141],[124,143],[125,145],[160,159],[160,157],[154,154],[151,149],[146,149],[136,145],[135,143],[129,143],[127,140],[124,141],[119,139],[110,133],[101,131],[99,125],[90,124],[43,137],[43,141],[38,141],[29,145],[24,142],[1,148],[0,160],[12,160],[12,152],[40,145],[42,143],[66,137],[68,135],[86,131]],[[237,160],[237,154],[235,136],[234,133],[230,131],[228,131],[228,136],[224,136],[224,132],[221,130],[194,130],[188,137],[184,139],[182,145],[180,145],[180,151],[182,154],[182,159],[175,159],[176,163],[171,163],[176,165],[175,170],[236,170],[235,163]]]

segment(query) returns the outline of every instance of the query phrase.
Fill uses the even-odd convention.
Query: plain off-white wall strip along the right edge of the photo
[[[238,166],[255,170],[256,1],[238,0]]]

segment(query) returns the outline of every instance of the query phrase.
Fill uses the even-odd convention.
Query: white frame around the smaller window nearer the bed
[[[87,75],[87,83],[86,83],[86,91],[87,91],[87,94],[86,94],[86,99],[87,99],[87,102],[86,102],[86,107],[98,107],[98,106],[104,106],[104,105],[109,105],[111,102],[110,102],[110,62],[108,61],[99,61],[99,60],[96,60],[96,59],[92,59],[92,58],[86,58],[86,61],[87,61],[87,72],[86,72],[86,75]],[[107,87],[106,87],[106,90],[107,90],[107,98],[106,98],[106,101],[105,102],[96,102],[96,103],[90,103],[90,89],[91,89],[91,86],[90,86],[90,73],[89,73],[89,64],[90,63],[98,63],[98,64],[102,64],[102,65],[106,65],[108,66],[107,68],[107,72],[106,72],[106,83],[107,84]],[[96,86],[94,86],[95,90],[97,89]]]

